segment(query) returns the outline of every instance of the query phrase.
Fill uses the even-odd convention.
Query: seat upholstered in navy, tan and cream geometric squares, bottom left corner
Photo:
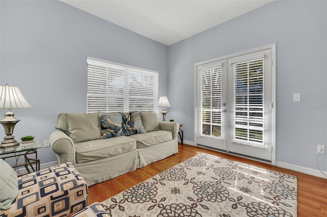
[[[87,184],[67,162],[18,177],[18,195],[0,216],[64,216],[87,204]]]

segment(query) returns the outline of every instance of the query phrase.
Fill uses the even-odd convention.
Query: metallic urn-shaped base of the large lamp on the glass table
[[[19,143],[14,139],[15,137],[12,135],[14,132],[14,127],[16,123],[20,121],[19,119],[14,117],[14,113],[10,110],[5,113],[5,118],[0,120],[0,123],[5,128],[6,137],[4,137],[4,141],[0,144],[0,148],[9,148],[18,146]]]

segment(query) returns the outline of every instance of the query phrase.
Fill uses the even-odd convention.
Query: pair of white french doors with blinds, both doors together
[[[198,145],[274,161],[272,52],[264,49],[196,66]]]

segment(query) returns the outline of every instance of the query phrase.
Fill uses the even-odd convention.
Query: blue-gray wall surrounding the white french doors
[[[168,119],[184,123],[184,139],[194,142],[194,63],[272,43],[276,161],[317,169],[317,144],[327,147],[326,1],[275,1],[169,46]],[[319,162],[326,171],[326,154]]]

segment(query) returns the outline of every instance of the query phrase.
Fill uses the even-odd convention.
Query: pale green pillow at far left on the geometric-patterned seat
[[[0,210],[9,209],[18,195],[17,174],[0,158]]]

